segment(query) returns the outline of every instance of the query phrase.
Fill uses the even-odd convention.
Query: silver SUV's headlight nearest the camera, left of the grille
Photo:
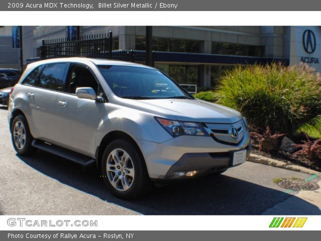
[[[172,136],[178,137],[182,135],[189,136],[206,136],[208,133],[205,131],[201,123],[196,122],[179,122],[172,121],[171,119],[163,119],[155,117],[157,122]]]

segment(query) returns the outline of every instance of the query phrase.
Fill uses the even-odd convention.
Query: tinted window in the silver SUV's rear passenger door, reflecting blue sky
[[[47,64],[43,68],[37,86],[46,88],[64,91],[65,90],[65,74],[66,64],[57,63],[57,64]]]

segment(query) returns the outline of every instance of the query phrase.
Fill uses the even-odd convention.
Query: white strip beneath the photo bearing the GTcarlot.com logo
[[[269,228],[273,217],[307,217],[301,228]],[[97,220],[97,227],[38,227],[38,226],[9,226],[9,218],[26,218],[28,220]],[[33,223],[33,222],[30,222]],[[121,225],[119,225],[121,223]],[[320,216],[311,215],[266,215],[266,216],[236,216],[236,215],[197,215],[197,216],[74,216],[74,215],[43,215],[43,216],[0,216],[0,230],[320,230]]]

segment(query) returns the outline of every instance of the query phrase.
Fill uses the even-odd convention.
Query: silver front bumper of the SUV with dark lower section
[[[136,141],[152,179],[177,179],[171,177],[177,171],[197,170],[195,177],[218,172],[232,167],[233,152],[246,149],[248,158],[251,151],[248,132],[237,146],[197,136],[181,136],[164,143]]]

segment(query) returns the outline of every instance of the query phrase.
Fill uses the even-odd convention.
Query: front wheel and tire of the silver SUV
[[[103,180],[118,198],[137,198],[152,187],[145,161],[130,141],[117,139],[109,143],[101,163]]]

